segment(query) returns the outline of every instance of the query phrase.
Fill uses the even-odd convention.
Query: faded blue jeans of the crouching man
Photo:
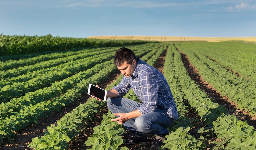
[[[129,113],[137,110],[143,104],[125,97],[112,97],[107,99],[107,105],[112,113]],[[143,114],[137,118],[131,118],[123,123],[123,125],[133,131],[134,134],[149,133],[162,135],[168,132],[167,127],[171,126],[173,120],[166,111],[156,108],[154,112]]]

